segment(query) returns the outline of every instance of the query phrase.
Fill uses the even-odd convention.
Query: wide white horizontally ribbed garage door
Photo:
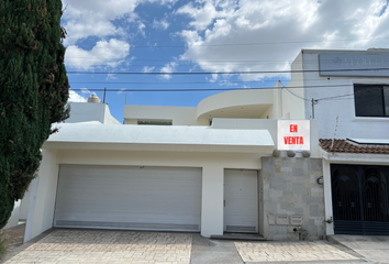
[[[201,168],[62,165],[54,227],[200,231]]]

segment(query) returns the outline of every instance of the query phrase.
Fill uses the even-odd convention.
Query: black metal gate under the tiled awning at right
[[[331,165],[335,234],[389,235],[389,167]]]

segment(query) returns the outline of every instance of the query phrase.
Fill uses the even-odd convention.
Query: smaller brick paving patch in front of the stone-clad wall
[[[235,242],[244,262],[323,262],[358,261],[324,241],[312,242]]]

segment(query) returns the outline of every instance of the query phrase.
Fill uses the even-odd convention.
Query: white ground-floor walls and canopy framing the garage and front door
[[[313,122],[312,128],[314,127],[315,123]],[[169,170],[174,167],[180,167],[184,170],[186,168],[197,168],[199,169],[198,172],[201,172],[200,232],[208,238],[222,235],[224,231],[227,231],[227,228],[231,229],[231,227],[238,226],[238,222],[236,224],[236,217],[231,216],[231,213],[224,215],[224,200],[226,200],[224,197],[225,172],[231,172],[231,169],[236,169],[237,172],[253,170],[255,175],[258,175],[262,169],[262,157],[270,156],[275,148],[274,139],[277,139],[277,122],[275,120],[213,119],[211,127],[65,123],[62,125],[60,132],[53,134],[43,145],[44,160],[40,167],[38,178],[33,182],[30,191],[30,211],[25,241],[52,228],[53,224],[54,227],[60,227],[60,224],[56,224],[57,217],[55,215],[58,206],[62,213],[64,212],[63,210],[70,210],[67,215],[70,218],[66,220],[70,221],[70,226],[76,224],[71,227],[77,228],[77,224],[79,224],[79,227],[88,228],[86,224],[95,224],[96,228],[96,223],[89,221],[91,219],[71,218],[71,216],[80,216],[77,215],[80,213],[77,211],[78,207],[75,208],[73,206],[71,209],[70,205],[66,205],[67,201],[66,199],[64,200],[64,197],[58,197],[58,195],[64,195],[63,187],[60,187],[60,183],[58,184],[58,180],[60,180],[58,175],[64,174],[66,166],[70,166],[73,172],[76,173],[77,166],[101,167],[102,169],[109,167],[115,169],[124,167],[145,169],[159,167],[160,172]],[[318,136],[312,136],[311,140],[312,142],[318,142]],[[312,156],[319,156],[318,144],[312,148]],[[115,169],[112,169],[112,173],[116,172]],[[63,177],[66,177],[66,174],[64,175]],[[99,175],[102,178],[97,180],[104,180],[103,177],[105,176],[101,173]],[[154,176],[157,175],[159,174]],[[87,176],[82,174],[82,177]],[[109,176],[109,179],[114,180],[114,177]],[[82,184],[87,184],[90,188],[100,188],[101,185],[97,185],[100,182],[91,179],[89,184],[86,182],[82,182]],[[249,186],[251,180],[247,180],[247,183]],[[232,185],[232,188],[237,187]],[[73,194],[75,197],[79,197],[79,202],[84,202],[81,193]],[[158,194],[163,195],[164,193],[160,189],[156,189],[155,195],[158,196]],[[231,197],[234,197],[234,191]],[[231,197],[229,198],[230,200]],[[258,197],[253,197],[256,199],[252,201],[254,202],[253,206],[258,208],[257,204],[255,204],[258,202]],[[59,204],[56,205],[56,202]],[[92,205],[90,204],[89,206]],[[149,205],[144,206],[144,208],[148,207]],[[140,208],[136,210],[141,210]],[[236,208],[232,208],[230,211],[232,215],[240,212]],[[251,224],[253,221],[259,224],[258,220],[255,220],[258,219],[258,215],[263,215],[263,212],[259,210],[253,212],[251,219],[242,221],[246,222],[245,224]],[[99,215],[99,218],[101,221],[104,220],[103,215]],[[230,220],[225,222],[225,218]],[[85,221],[88,220],[89,223],[80,221],[82,219]],[[74,220],[76,223],[71,223]],[[110,221],[107,220],[104,224],[110,224],[110,227],[116,229],[140,228],[140,224],[136,226],[136,221],[134,221],[126,223],[130,226],[124,227],[123,224],[112,223],[111,219]],[[155,221],[158,221],[158,217],[155,217]],[[225,223],[229,221],[233,224],[226,227]],[[184,221],[184,223],[188,222]],[[165,227],[163,230],[169,230],[166,226],[158,222],[157,224],[155,222],[151,224],[154,226],[148,227]],[[153,230],[153,228],[149,229]],[[256,230],[258,230],[258,227],[256,227]]]

